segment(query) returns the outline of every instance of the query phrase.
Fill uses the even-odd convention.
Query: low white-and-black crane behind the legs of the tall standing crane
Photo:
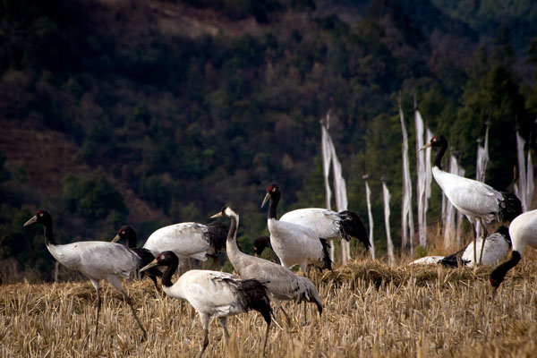
[[[482,238],[477,239],[477,251],[481,251],[483,244]],[[511,238],[509,230],[506,226],[499,226],[494,234],[487,236],[485,247],[482,251],[482,265],[492,266],[498,265],[499,261],[503,260],[509,248],[511,247]],[[413,260],[411,265],[428,265],[440,264],[448,267],[458,267],[459,265],[473,268],[473,243],[469,243],[465,249],[457,251],[447,256],[426,256],[418,260]]]

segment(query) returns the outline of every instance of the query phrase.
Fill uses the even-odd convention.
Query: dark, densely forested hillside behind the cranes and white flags
[[[231,203],[248,251],[267,233],[269,183],[282,188],[282,213],[324,207],[328,111],[349,209],[366,225],[370,175],[382,253],[381,177],[400,243],[399,97],[412,170],[416,98],[468,177],[489,122],[486,181],[512,190],[515,129],[535,147],[534,23],[531,1],[4,0],[2,267],[50,279],[41,229],[22,228],[37,209],[69,243],[110,240],[124,224],[145,240]],[[439,207],[433,183],[431,225]]]

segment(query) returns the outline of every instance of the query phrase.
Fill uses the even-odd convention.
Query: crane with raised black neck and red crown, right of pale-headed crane
[[[278,220],[277,203],[280,198],[281,192],[277,184],[270,184],[261,208],[270,200],[267,218],[270,243],[282,265],[286,268],[300,265],[305,276],[308,264],[331,270],[332,260],[328,254],[330,243],[327,238],[320,237],[308,226]]]

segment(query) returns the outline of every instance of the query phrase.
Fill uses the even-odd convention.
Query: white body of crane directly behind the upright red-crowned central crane
[[[320,208],[296,209],[279,218],[279,221],[307,226],[319,238],[328,240],[342,239],[339,234],[341,217],[336,211]]]

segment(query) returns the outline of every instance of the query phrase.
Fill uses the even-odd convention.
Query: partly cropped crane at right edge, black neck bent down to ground
[[[509,226],[509,234],[513,243],[511,258],[490,273],[490,285],[494,287],[494,293],[506,277],[507,271],[520,261],[525,247],[530,245],[537,249],[537,209],[516,217]]]

